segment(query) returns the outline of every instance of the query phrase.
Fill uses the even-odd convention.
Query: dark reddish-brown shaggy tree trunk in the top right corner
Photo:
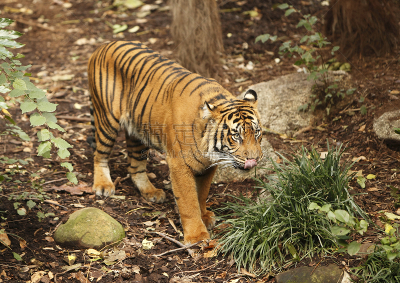
[[[326,35],[345,56],[396,48],[399,30],[387,0],[332,0],[325,21]]]

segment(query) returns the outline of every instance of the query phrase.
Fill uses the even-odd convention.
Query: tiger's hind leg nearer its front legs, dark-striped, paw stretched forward
[[[144,154],[144,150],[147,147],[140,140],[129,136],[127,132],[125,132],[125,137],[128,151],[128,172],[132,182],[147,201],[155,203],[164,202],[165,192],[162,189],[155,188],[146,174],[147,154]]]

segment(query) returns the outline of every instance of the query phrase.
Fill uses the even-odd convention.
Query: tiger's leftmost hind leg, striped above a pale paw
[[[92,191],[96,195],[110,196],[115,193],[115,185],[112,183],[108,159],[118,134],[118,125],[102,126],[96,123],[95,140],[96,149],[94,152],[94,173]]]

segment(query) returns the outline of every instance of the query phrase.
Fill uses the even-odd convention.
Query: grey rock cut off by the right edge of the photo
[[[373,130],[379,138],[400,142],[400,134],[393,127],[400,127],[400,110],[385,112],[373,121]]]

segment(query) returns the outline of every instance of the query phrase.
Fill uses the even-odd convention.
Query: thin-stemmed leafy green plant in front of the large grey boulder
[[[315,81],[313,93],[310,95],[311,102],[300,105],[298,110],[305,111],[309,108],[311,111],[314,111],[316,107],[320,106],[329,115],[331,107],[339,99],[344,98],[345,95],[352,94],[355,88],[339,89],[337,83],[332,81],[332,76],[329,76],[328,70],[339,69],[348,71],[351,66],[348,63],[333,62],[334,59],[326,60],[323,57],[322,50],[327,48],[331,43],[322,33],[313,29],[313,25],[318,20],[316,16],[301,14],[299,10],[287,3],[279,4],[277,7],[285,10],[285,16],[289,16],[292,13],[299,13],[301,19],[298,21],[296,28],[303,27],[306,30],[306,34],[301,37],[298,43],[288,40],[283,42],[279,47],[280,55],[286,54],[288,57],[295,56],[298,58],[294,64],[303,66],[303,69],[309,73],[307,79]],[[266,33],[258,35],[255,38],[255,42],[261,41],[264,43],[267,40],[275,41],[276,39],[276,35],[271,36]],[[338,49],[339,46],[331,47],[330,54],[333,56]],[[319,60],[322,62],[320,65],[317,64]]]

